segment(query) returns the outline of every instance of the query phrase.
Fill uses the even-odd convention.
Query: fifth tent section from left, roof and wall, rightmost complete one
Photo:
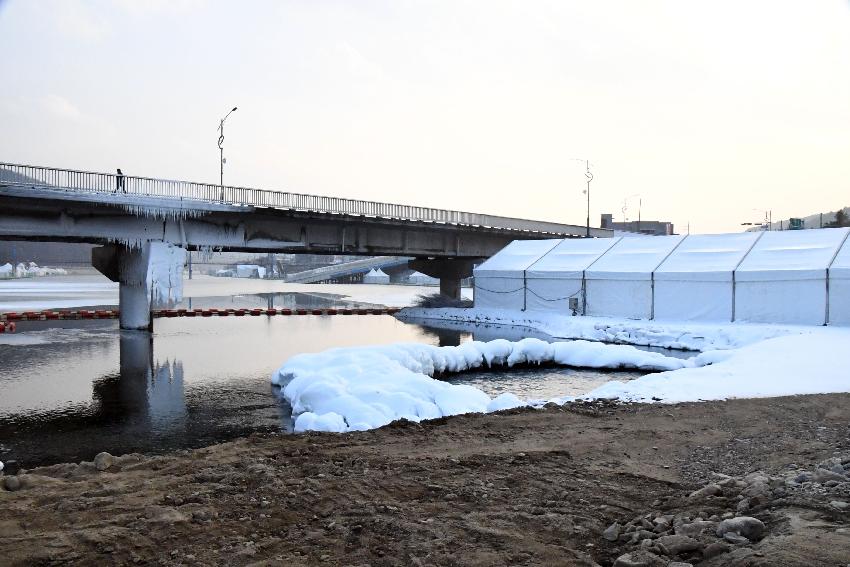
[[[764,233],[735,272],[735,320],[826,323],[827,269],[848,231],[825,228]]]

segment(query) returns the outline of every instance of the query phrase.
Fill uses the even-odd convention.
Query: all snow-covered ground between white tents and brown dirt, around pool
[[[394,419],[419,421],[575,399],[521,400],[513,394],[490,399],[470,386],[432,378],[491,365],[655,371],[629,382],[608,382],[581,398],[672,403],[850,391],[850,367],[841,361],[850,328],[681,324],[476,309],[407,309],[402,317],[517,325],[576,340],[398,344],[300,355],[272,376],[298,416],[296,431],[370,429]],[[631,345],[701,352],[683,360]]]

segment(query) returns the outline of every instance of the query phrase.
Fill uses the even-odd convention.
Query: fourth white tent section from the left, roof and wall
[[[735,269],[762,234],[693,234],[685,238],[655,270],[655,318],[732,321]]]

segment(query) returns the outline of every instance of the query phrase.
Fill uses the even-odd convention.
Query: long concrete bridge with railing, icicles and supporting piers
[[[461,211],[0,162],[0,239],[101,244],[121,328],[178,300],[186,250],[410,256],[459,297],[474,263],[512,240],[612,231]]]

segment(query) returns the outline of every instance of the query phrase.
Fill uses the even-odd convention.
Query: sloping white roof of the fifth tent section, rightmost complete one
[[[765,232],[736,271],[739,281],[820,277],[847,239],[848,228]]]

